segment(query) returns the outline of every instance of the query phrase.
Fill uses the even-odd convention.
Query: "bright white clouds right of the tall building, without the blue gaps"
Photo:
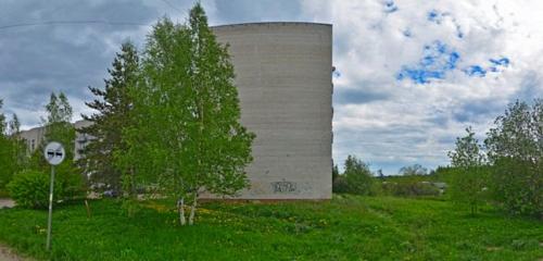
[[[401,163],[430,167],[446,164],[454,137],[473,125],[481,136],[505,105],[531,85],[543,94],[543,2],[532,1],[303,1],[307,17],[333,24],[333,64],[341,72],[337,92],[387,94],[362,103],[336,103],[333,120],[337,161],[348,153],[378,162],[393,174]],[[429,21],[435,12],[440,23]],[[408,37],[407,37],[407,36]],[[460,37],[462,36],[462,37]],[[395,75],[417,64],[425,45],[439,40],[456,51],[456,69],[443,79],[415,84]],[[490,72],[490,59],[510,65]],[[462,70],[480,65],[484,77]]]

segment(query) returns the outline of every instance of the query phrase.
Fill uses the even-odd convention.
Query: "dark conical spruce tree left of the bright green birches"
[[[110,78],[104,79],[105,88],[89,87],[97,97],[86,104],[98,111],[83,119],[92,123],[79,132],[92,139],[85,149],[78,164],[85,173],[91,174],[93,182],[101,182],[114,190],[122,189],[121,169],[115,165],[114,151],[125,151],[123,129],[130,126],[130,109],[132,102],[129,89],[136,86],[139,77],[139,57],[136,47],[127,41],[121,47],[109,69]],[[128,178],[126,178],[128,179]],[[134,190],[132,182],[128,190]]]

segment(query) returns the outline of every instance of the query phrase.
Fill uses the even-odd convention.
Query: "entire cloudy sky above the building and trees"
[[[51,91],[89,113],[87,86],[103,86],[125,39],[141,47],[156,18],[185,22],[186,0],[1,0],[0,99],[28,128]],[[471,125],[482,138],[507,103],[543,94],[539,0],[215,0],[212,25],[333,24],[334,144],[395,174],[433,169]],[[79,116],[76,116],[77,119]]]

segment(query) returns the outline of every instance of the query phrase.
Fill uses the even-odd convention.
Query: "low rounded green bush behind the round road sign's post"
[[[11,198],[17,206],[31,209],[46,209],[49,204],[50,176],[39,171],[23,171],[14,175],[8,184]],[[63,195],[60,182],[54,184],[55,198]]]

